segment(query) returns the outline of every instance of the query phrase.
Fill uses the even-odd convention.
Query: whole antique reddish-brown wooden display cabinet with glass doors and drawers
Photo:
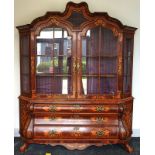
[[[20,134],[31,143],[84,149],[123,144],[132,134],[136,28],[85,2],[47,12],[20,34]]]

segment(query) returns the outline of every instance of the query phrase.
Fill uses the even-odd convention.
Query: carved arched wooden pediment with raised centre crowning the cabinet
[[[89,11],[86,2],[73,3],[68,2],[64,12],[47,12],[45,15],[34,19],[31,24],[27,25],[35,34],[50,26],[64,27],[70,31],[81,31],[86,25],[101,25],[112,29],[113,31],[135,31],[135,28],[124,26],[118,19],[113,18],[106,12]],[[24,29],[25,26],[20,26],[18,29]],[[115,32],[114,32],[115,33]]]

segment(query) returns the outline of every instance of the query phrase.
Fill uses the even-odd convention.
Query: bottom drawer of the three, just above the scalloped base
[[[118,138],[119,128],[82,126],[34,126],[34,137],[45,139],[103,139]]]

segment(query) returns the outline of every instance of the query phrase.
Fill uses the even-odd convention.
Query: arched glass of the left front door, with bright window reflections
[[[62,28],[45,28],[37,37],[37,93],[70,94],[71,37]]]

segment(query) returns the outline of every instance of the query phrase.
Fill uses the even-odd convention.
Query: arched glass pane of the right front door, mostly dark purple
[[[117,90],[117,37],[103,27],[82,38],[82,93],[114,94]]]

